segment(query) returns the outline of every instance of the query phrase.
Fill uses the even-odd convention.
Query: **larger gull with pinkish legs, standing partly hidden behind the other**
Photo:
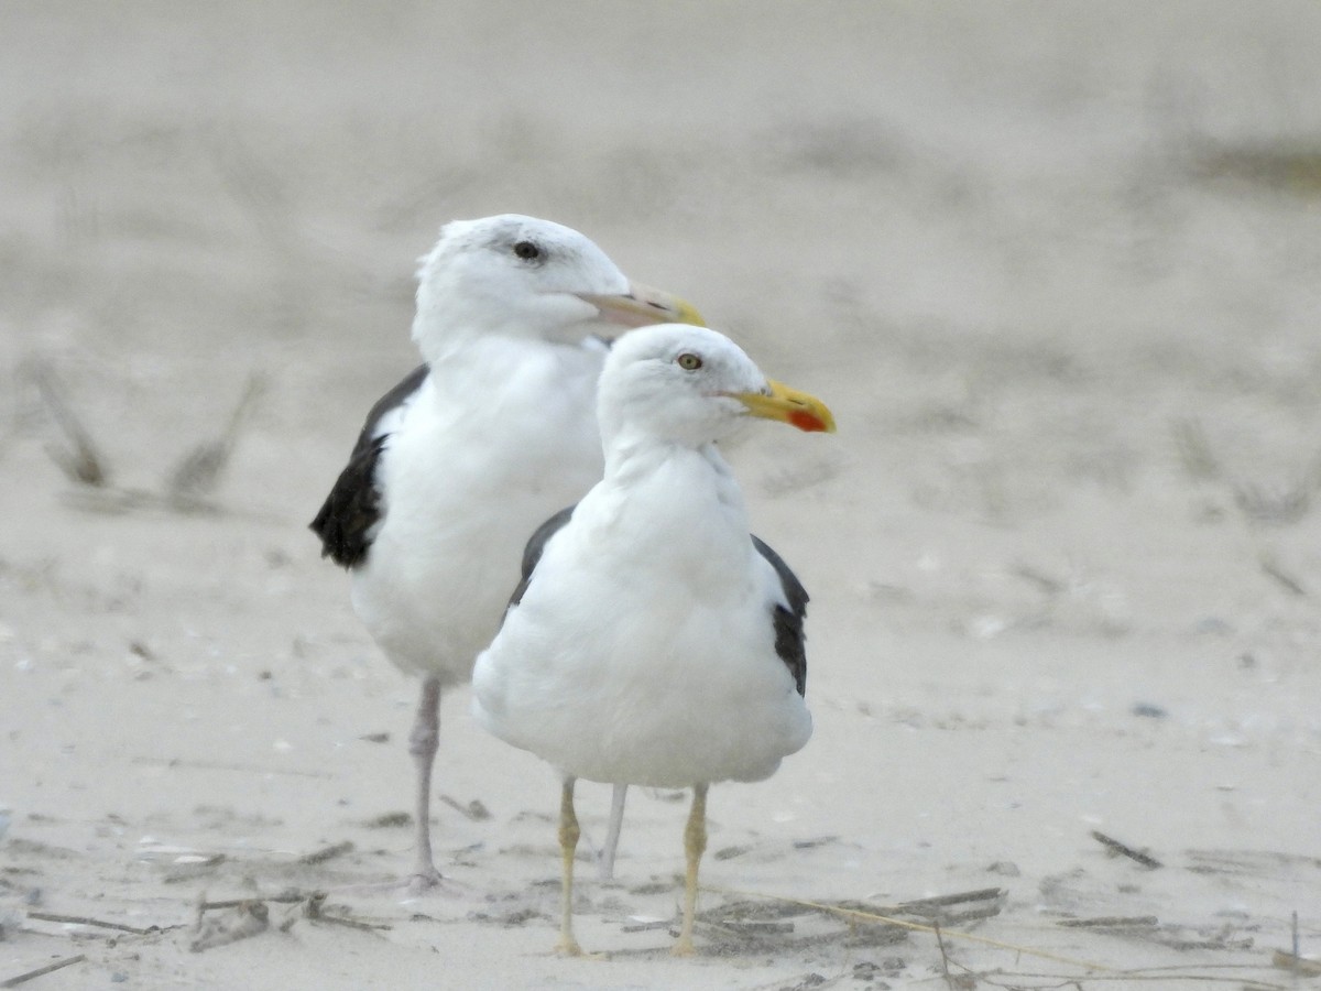
[[[429,828],[441,690],[472,677],[499,626],[527,532],[601,477],[597,334],[674,321],[701,317],[551,221],[452,221],[420,262],[412,338],[424,363],[371,407],[312,522],[322,556],[349,569],[371,637],[421,678],[413,891],[441,880]],[[608,844],[622,799],[617,790]]]

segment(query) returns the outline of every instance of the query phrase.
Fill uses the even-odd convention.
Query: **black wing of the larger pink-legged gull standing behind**
[[[321,556],[351,568],[367,556],[371,539],[367,532],[380,519],[380,493],[376,490],[376,459],[386,448],[388,435],[373,436],[380,419],[408,399],[421,386],[429,369],[419,365],[394,388],[386,392],[367,414],[367,422],[353,445],[349,464],[339,472],[321,511],[312,521],[312,530],[321,538]]]

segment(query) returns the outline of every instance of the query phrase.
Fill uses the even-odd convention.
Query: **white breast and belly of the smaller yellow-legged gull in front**
[[[567,773],[752,781],[811,735],[775,654],[778,576],[724,462],[687,453],[593,489],[478,661],[478,720]]]

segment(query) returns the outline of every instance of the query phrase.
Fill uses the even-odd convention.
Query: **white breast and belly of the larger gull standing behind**
[[[600,367],[594,346],[501,340],[433,367],[382,453],[383,515],[353,580],[354,608],[396,663],[468,678],[523,543],[600,477]]]

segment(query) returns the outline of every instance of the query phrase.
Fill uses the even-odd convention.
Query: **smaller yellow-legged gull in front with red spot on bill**
[[[601,373],[605,476],[528,542],[523,580],[477,658],[481,725],[561,776],[560,941],[573,937],[577,778],[692,788],[676,954],[694,951],[707,789],[760,781],[811,736],[807,592],[749,532],[717,443],[748,416],[834,431],[814,396],[770,382],[729,338],[634,330]]]

